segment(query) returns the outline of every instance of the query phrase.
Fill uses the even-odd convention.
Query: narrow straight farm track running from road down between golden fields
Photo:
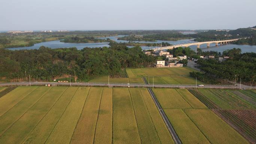
[[[182,142],[180,141],[180,138],[178,137],[178,135],[176,134],[176,132],[174,131],[173,129],[173,126],[171,125],[171,123],[169,122],[166,114],[164,113],[164,110],[162,109],[161,105],[159,104],[159,102],[157,101],[156,99],[156,96],[154,95],[152,89],[147,89],[149,91],[149,94],[152,96],[152,99],[153,101],[155,102],[156,104],[156,107],[158,108],[159,110],[159,113],[161,114],[162,116],[162,119],[164,120],[165,122],[165,125],[167,126],[171,136],[173,137],[173,140],[174,140],[174,143],[175,144],[182,144]]]

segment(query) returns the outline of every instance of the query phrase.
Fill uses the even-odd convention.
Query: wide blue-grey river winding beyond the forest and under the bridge
[[[124,35],[119,35],[119,36],[110,36],[110,37],[101,37],[99,39],[111,39],[114,40],[118,43],[120,42],[129,42],[127,40],[118,40],[119,37],[124,37]],[[136,41],[135,41],[136,42]],[[178,40],[178,41],[164,41],[164,40],[157,40],[156,42],[143,42],[140,41],[138,43],[162,43],[162,42],[167,42],[173,45],[178,45],[178,44],[182,44],[182,43],[192,43],[193,40]],[[10,50],[21,50],[21,49],[39,49],[40,46],[45,46],[45,47],[49,47],[49,48],[72,48],[72,47],[76,47],[77,49],[83,49],[85,47],[88,48],[98,48],[98,47],[109,47],[108,42],[104,42],[104,43],[63,43],[60,42],[60,40],[55,40],[55,41],[50,41],[50,42],[42,42],[42,43],[36,43],[34,44],[34,46],[29,46],[29,47],[20,47],[20,48],[8,48]],[[132,46],[128,46],[129,48],[131,48]],[[149,46],[141,46],[142,49],[150,49],[150,48],[156,48],[155,46],[153,47],[149,47]],[[195,46],[190,46],[191,49],[196,50],[196,45]],[[245,52],[256,52],[256,46],[250,46],[250,45],[219,45],[219,46],[215,46],[215,43],[210,44],[210,48],[207,48],[207,45],[200,45],[200,48],[203,51],[218,51],[218,52],[223,52],[224,50],[227,49],[232,49],[232,48],[240,48],[242,50],[242,53]]]

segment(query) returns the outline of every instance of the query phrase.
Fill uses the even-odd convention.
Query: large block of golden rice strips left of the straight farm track
[[[174,144],[143,88],[27,86],[0,103],[1,144]]]

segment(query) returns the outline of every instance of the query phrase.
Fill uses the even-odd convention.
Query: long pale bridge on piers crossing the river
[[[220,45],[224,45],[224,44],[228,44],[229,42],[234,42],[237,41],[239,39],[226,39],[226,40],[212,40],[212,41],[205,41],[205,42],[195,42],[195,43],[185,43],[185,44],[180,44],[180,45],[173,45],[173,46],[165,46],[165,47],[161,47],[161,48],[155,48],[155,49],[147,49],[147,50],[165,50],[165,49],[174,49],[174,48],[178,48],[178,47],[189,47],[192,45],[197,45],[197,48],[200,48],[200,45],[203,44],[207,44],[207,48],[210,47],[211,43],[215,43],[216,46],[218,46],[218,43],[220,43]]]

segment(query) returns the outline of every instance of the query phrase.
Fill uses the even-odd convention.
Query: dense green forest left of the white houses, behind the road
[[[51,81],[76,73],[77,80],[110,75],[124,77],[126,67],[151,67],[156,57],[145,55],[140,47],[115,45],[110,48],[60,48],[44,46],[33,50],[0,49],[0,77],[2,81]],[[27,77],[26,77],[27,76]]]

